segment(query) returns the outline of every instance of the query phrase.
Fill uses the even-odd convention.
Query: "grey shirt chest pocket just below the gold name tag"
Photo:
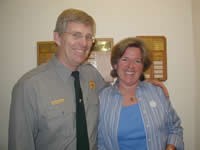
[[[75,134],[75,109],[63,104],[49,106],[47,110],[49,136],[71,137]]]

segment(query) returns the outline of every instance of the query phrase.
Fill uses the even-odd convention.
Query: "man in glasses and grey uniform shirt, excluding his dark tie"
[[[54,30],[58,46],[55,56],[25,74],[13,88],[9,150],[76,149],[76,93],[71,76],[76,70],[80,74],[89,147],[97,149],[97,94],[105,82],[94,67],[83,64],[94,35],[95,21],[87,13],[67,9],[59,15]]]

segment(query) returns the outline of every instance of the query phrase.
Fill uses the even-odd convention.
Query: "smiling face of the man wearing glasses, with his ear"
[[[54,40],[58,45],[58,59],[75,70],[89,55],[93,43],[92,27],[71,22],[61,35],[54,33]]]

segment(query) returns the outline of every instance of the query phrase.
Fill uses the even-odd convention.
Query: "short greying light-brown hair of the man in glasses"
[[[67,9],[64,10],[57,18],[56,27],[54,32],[62,34],[66,32],[67,25],[70,22],[82,23],[92,27],[93,34],[95,34],[96,24],[92,16],[79,9]]]

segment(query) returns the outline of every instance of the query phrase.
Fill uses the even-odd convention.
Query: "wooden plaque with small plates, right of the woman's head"
[[[137,36],[150,50],[152,65],[145,72],[145,78],[167,80],[167,48],[164,36]]]

